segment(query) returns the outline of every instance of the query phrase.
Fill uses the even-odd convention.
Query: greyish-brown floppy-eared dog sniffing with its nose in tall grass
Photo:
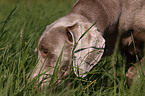
[[[144,17],[144,0],[78,0],[40,37],[35,50],[39,62],[32,78],[44,73],[42,81],[59,68],[57,76],[61,79],[69,74],[72,62],[76,76],[83,78],[102,56],[113,54],[118,38],[119,50],[128,56],[128,62],[134,62],[136,56],[144,61]],[[128,69],[128,79],[135,77],[135,71],[134,66]]]

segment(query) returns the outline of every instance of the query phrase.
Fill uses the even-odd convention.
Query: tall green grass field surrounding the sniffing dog
[[[33,50],[41,34],[70,11],[73,1],[0,0],[0,96],[145,96],[143,76],[127,85],[126,62],[117,51],[86,78],[68,76],[43,90],[30,80],[37,63]]]

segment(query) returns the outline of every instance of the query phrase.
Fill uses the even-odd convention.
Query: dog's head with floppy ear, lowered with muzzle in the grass
[[[104,47],[105,40],[93,24],[82,16],[67,15],[49,25],[41,36],[37,48],[39,62],[33,77],[39,71],[52,75],[56,64],[58,77],[64,77],[72,62],[74,73],[85,77],[100,61]]]

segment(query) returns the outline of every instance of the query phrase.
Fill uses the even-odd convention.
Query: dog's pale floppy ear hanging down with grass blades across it
[[[87,31],[91,26],[89,23],[79,22],[67,28],[68,40],[74,45],[74,72],[79,77],[85,77],[85,73],[100,61],[104,52],[105,39],[95,26]]]

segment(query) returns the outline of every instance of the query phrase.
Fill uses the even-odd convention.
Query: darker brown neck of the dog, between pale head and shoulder
[[[120,0],[78,0],[69,14],[84,16],[101,31],[117,23],[121,13]]]

